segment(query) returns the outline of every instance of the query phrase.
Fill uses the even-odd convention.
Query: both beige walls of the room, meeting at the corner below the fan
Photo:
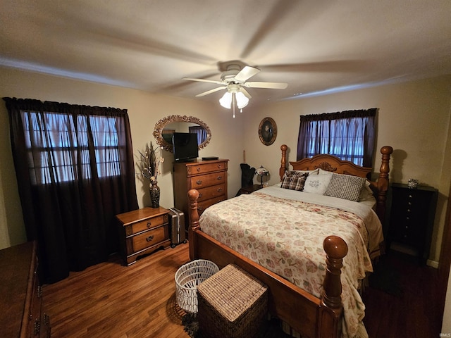
[[[240,188],[242,151],[247,163],[265,165],[271,173],[270,183],[278,182],[280,144],[289,146],[289,159],[295,161],[299,115],[343,111],[359,108],[379,108],[378,149],[384,145],[395,149],[390,163],[391,180],[406,182],[415,177],[422,184],[439,189],[440,196],[433,231],[431,260],[438,261],[445,218],[447,194],[450,191],[450,101],[451,76],[417,80],[400,84],[354,90],[305,99],[280,101],[264,106],[249,104],[245,111],[232,118],[218,104],[199,99],[180,99],[154,95],[134,89],[68,80],[61,77],[27,73],[0,68],[1,97],[61,101],[92,106],[113,106],[128,109],[135,153],[154,137],[155,123],[166,115],[193,115],[209,125],[211,144],[199,156],[229,158],[228,195],[235,196]],[[271,146],[261,144],[258,127],[262,118],[276,121],[278,136]],[[9,141],[8,116],[0,104],[0,249],[25,241],[25,230],[18,197],[16,175]],[[166,161],[159,178],[161,205],[173,206],[172,154],[164,152]],[[375,159],[375,168],[381,164]],[[256,180],[257,182],[257,180]],[[140,207],[149,206],[147,184],[137,180]]]

